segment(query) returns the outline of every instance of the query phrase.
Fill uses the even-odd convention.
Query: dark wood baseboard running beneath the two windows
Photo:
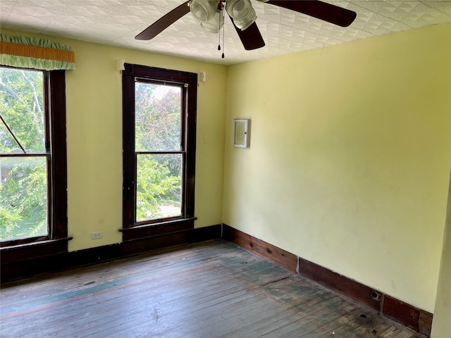
[[[67,252],[66,244],[66,250],[63,252],[37,256],[35,258],[8,259],[4,261],[4,257],[1,257],[0,282],[4,284],[16,280],[25,280],[42,273],[112,261],[140,253],[157,251],[172,246],[204,242],[220,237],[221,225],[218,224],[209,227],[174,231],[166,234],[156,234],[140,239],[130,239],[118,244],[97,246],[79,251]]]

